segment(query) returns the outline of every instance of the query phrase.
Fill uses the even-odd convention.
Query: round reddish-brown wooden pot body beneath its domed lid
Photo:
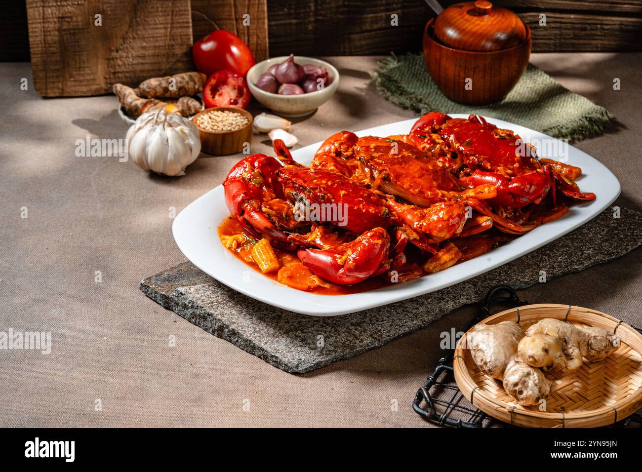
[[[503,100],[528,65],[531,44],[528,25],[525,24],[526,40],[513,48],[465,51],[442,44],[435,37],[434,22],[431,19],[426,23],[423,49],[426,67],[439,90],[449,99],[466,105]],[[468,83],[472,87],[467,87]]]

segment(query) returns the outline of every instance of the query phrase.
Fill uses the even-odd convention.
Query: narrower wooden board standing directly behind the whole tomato
[[[268,58],[267,0],[191,0],[194,41],[214,30],[231,31],[250,47],[256,62]],[[243,15],[249,15],[249,25]]]

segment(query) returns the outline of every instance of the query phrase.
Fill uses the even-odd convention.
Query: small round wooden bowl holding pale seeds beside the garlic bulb
[[[229,111],[242,114],[248,119],[247,125],[235,131],[209,131],[196,125],[196,119],[204,113],[216,111]],[[252,114],[250,112],[233,107],[208,108],[196,113],[192,121],[198,128],[201,140],[201,152],[213,155],[229,155],[243,151],[245,143],[252,144]]]

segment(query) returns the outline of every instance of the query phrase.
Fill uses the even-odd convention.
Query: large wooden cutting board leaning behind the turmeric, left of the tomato
[[[189,1],[27,0],[27,15],[42,96],[104,94],[116,82],[193,69]]]

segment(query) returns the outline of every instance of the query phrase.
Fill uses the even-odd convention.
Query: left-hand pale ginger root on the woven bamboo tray
[[[537,405],[550,394],[551,382],[517,355],[517,345],[524,335],[519,324],[503,321],[474,326],[466,340],[482,372],[501,380],[504,390],[519,405]]]

